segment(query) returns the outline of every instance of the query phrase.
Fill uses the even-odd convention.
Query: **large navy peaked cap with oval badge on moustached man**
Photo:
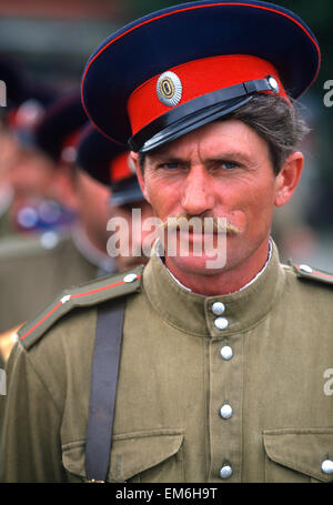
[[[251,0],[189,2],[107,39],[85,65],[82,101],[104,134],[147,152],[258,92],[299,98],[319,68],[314,34],[289,10]]]

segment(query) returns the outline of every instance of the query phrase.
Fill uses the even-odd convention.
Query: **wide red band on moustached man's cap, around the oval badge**
[[[228,54],[202,58],[171,69],[182,84],[182,99],[174,107],[164,105],[157,93],[157,82],[160,75],[137,88],[128,101],[132,133],[135,134],[148,123],[174,109],[182,103],[212,91],[240,84],[254,79],[264,79],[273,75],[280,88],[280,95],[286,98],[278,70],[272,63],[246,54]],[[148,107],[149,105],[149,107]]]

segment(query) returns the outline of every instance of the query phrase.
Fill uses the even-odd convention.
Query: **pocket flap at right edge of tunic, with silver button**
[[[325,459],[333,461],[333,428],[266,430],[263,440],[273,462],[322,482],[333,481],[332,473],[322,471]]]

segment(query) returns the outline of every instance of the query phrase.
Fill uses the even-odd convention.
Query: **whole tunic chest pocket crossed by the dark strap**
[[[184,482],[183,433],[154,430],[114,435],[108,482]],[[72,479],[85,479],[85,441],[65,444],[62,463]]]

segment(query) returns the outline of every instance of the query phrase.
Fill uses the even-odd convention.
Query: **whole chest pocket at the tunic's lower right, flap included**
[[[333,428],[268,430],[263,443],[265,482],[333,482],[322,469],[333,462]]]

